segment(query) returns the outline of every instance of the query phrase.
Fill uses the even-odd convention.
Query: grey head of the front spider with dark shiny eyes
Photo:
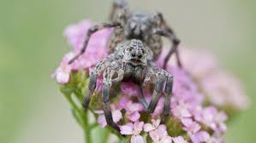
[[[133,39],[123,49],[123,62],[133,66],[146,66],[150,52],[140,40]]]

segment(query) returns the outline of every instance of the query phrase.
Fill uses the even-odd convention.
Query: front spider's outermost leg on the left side
[[[88,86],[88,91],[89,93],[86,95],[85,99],[83,100],[83,107],[85,109],[88,108],[90,100],[92,98],[92,94],[94,93],[94,90],[96,88],[96,83],[97,83],[97,77],[104,72],[104,70],[110,66],[111,63],[111,59],[110,58],[106,58],[102,61],[100,61],[95,68],[93,69],[91,76],[90,76],[90,82],[89,82],[89,86]]]

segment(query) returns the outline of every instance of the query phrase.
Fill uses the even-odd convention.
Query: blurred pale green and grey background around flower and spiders
[[[245,83],[252,106],[229,124],[226,142],[255,142],[256,2],[129,1],[162,11],[187,47],[209,49]],[[107,20],[111,1],[0,2],[0,142],[82,142],[82,131],[50,75],[70,48],[63,29],[82,19]],[[229,86],[229,85],[227,85]]]

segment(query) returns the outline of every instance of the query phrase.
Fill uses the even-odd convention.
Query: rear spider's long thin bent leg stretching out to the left
[[[104,23],[101,23],[101,24],[98,24],[98,25],[95,25],[95,26],[92,26],[88,31],[87,31],[87,34],[86,34],[86,39],[83,43],[83,47],[82,49],[80,50],[80,53],[79,54],[76,54],[74,56],[73,59],[69,60],[68,61],[68,64],[71,64],[74,62],[74,60],[78,59],[80,57],[81,54],[84,54],[85,51],[86,51],[86,47],[87,47],[87,44],[92,36],[93,33],[95,33],[96,31],[100,31],[104,28],[110,28],[110,27],[116,27],[116,26],[121,26],[121,24],[119,22],[116,22],[116,21],[109,21],[109,22],[104,22]]]

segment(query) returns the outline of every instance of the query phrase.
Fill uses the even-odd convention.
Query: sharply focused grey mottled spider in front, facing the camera
[[[115,51],[100,61],[92,71],[88,86],[89,93],[83,100],[82,105],[85,109],[88,108],[92,94],[96,88],[97,77],[103,73],[103,110],[106,122],[112,128],[120,131],[117,124],[113,121],[110,110],[110,88],[114,83],[130,81],[138,84],[138,87],[140,87],[138,100],[140,100],[141,104],[149,113],[154,111],[164,89],[164,117],[167,117],[170,114],[170,94],[172,91],[173,77],[170,73],[155,66],[152,59],[152,51],[146,48],[146,45],[138,39],[119,43]],[[147,83],[155,83],[149,106],[142,91],[142,86],[145,86]]]

